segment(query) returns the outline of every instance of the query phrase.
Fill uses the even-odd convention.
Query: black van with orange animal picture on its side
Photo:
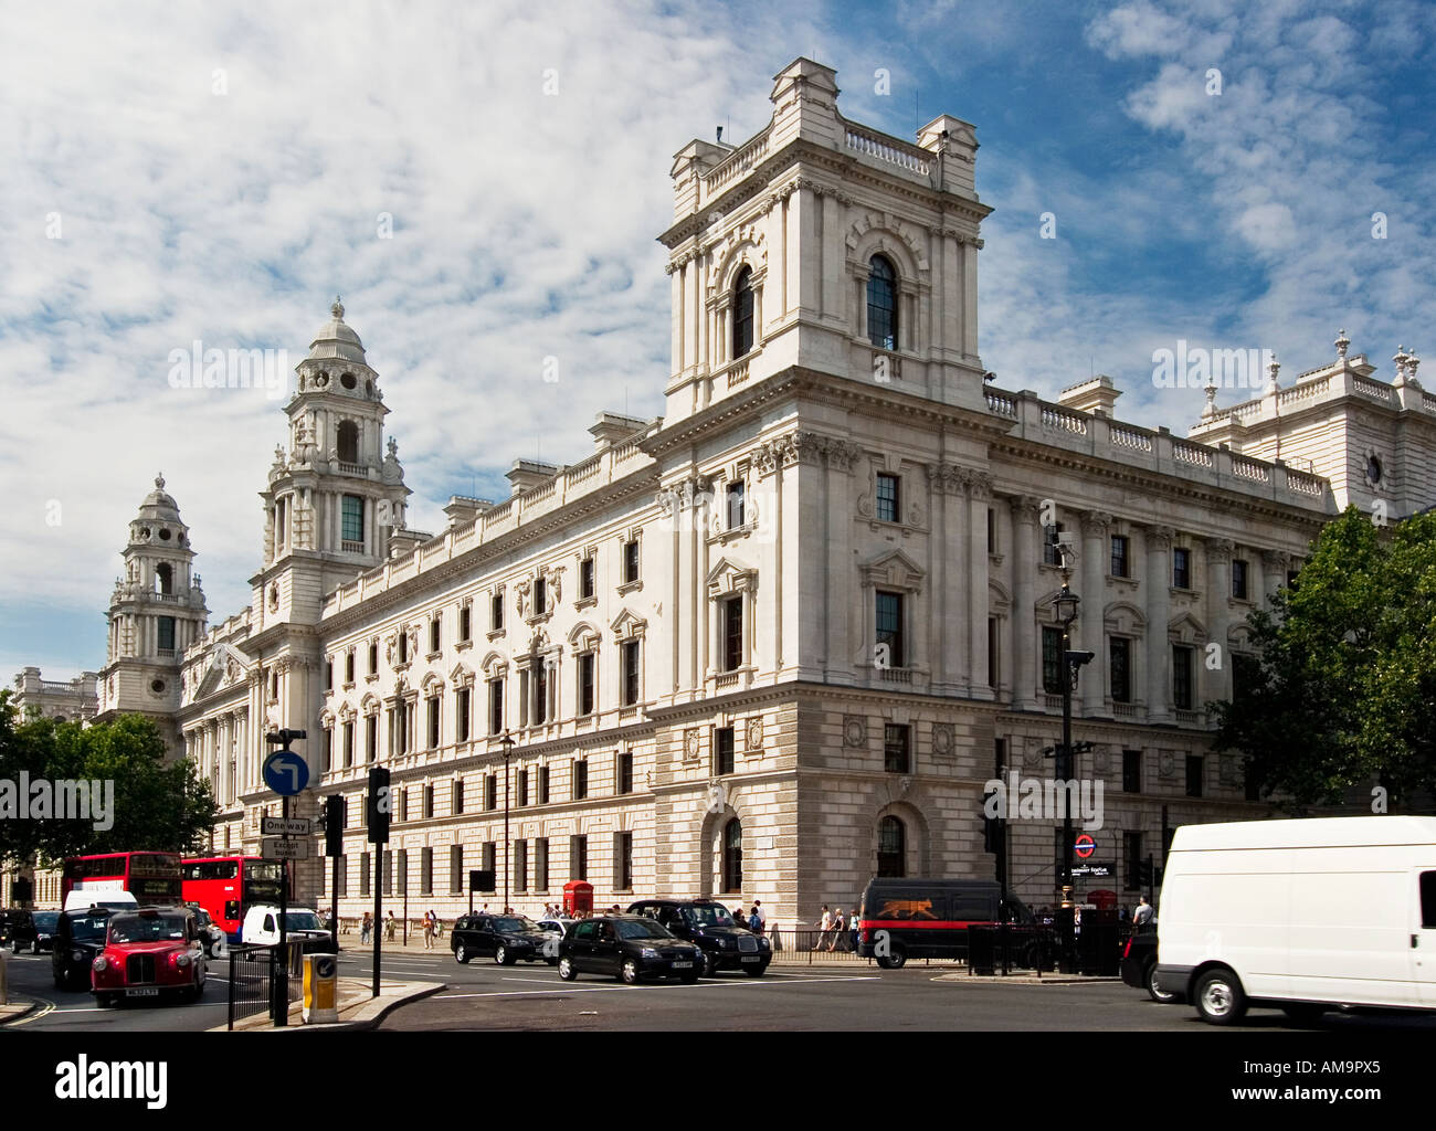
[[[873,880],[863,891],[857,953],[885,969],[908,959],[966,959],[974,923],[1031,923],[1017,898],[1002,903],[995,880]]]

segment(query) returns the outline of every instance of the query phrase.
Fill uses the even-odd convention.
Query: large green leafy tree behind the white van
[[[1323,528],[1297,584],[1248,619],[1255,670],[1212,703],[1215,748],[1288,808],[1380,781],[1436,785],[1436,514],[1377,528],[1356,507]]]

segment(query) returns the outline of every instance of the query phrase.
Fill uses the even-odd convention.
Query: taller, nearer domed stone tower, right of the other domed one
[[[337,299],[296,372],[289,451],[274,449],[260,492],[264,568],[251,581],[264,624],[313,623],[326,593],[383,564],[411,494],[398,445],[385,452],[379,375]]]

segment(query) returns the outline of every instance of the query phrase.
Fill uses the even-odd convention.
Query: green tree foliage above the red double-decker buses
[[[0,779],[19,788],[24,771],[30,782],[98,781],[113,789],[113,824],[96,830],[95,820],[0,821],[0,861],[36,858],[43,865],[93,853],[204,848],[218,815],[210,784],[187,758],[165,762],[154,722],[142,715],[92,726],[20,718],[9,699],[0,692]]]

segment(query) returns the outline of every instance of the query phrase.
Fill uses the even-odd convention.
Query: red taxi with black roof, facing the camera
[[[162,993],[195,1002],[204,993],[204,979],[200,923],[184,906],[112,914],[105,949],[90,965],[90,993],[99,1006]]]

